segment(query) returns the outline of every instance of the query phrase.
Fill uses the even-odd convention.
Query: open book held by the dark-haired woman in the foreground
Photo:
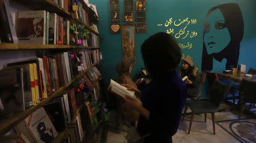
[[[121,96],[125,98],[125,95],[133,97],[134,99],[137,99],[135,96],[135,92],[131,92],[127,90],[125,86],[122,86],[115,82],[114,80],[110,80],[110,84],[108,87],[108,90],[114,94],[117,94],[118,96]],[[137,99],[139,102],[141,102],[139,99]]]

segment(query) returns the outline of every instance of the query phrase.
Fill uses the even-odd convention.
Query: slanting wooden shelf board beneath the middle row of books
[[[92,67],[96,66],[96,64],[98,64],[98,63],[94,63],[89,68],[86,68],[86,70],[80,72],[79,75],[77,75],[72,81],[70,81],[68,84],[62,86],[59,90],[57,90],[55,93],[53,93],[51,96],[49,96],[48,98],[44,99],[42,102],[38,103],[37,105],[32,106],[28,110],[15,113],[15,114],[9,116],[8,118],[4,118],[4,119],[0,120],[0,127],[1,127],[0,128],[0,137],[4,136],[5,133],[10,131],[11,128],[15,127],[19,122],[21,122],[22,120],[27,118],[27,116],[29,116],[34,111],[36,111],[37,109],[42,107],[45,103],[50,101],[52,98],[67,93],[69,91],[68,90],[68,86],[71,85],[77,79],[79,79],[82,76],[83,73],[89,71]]]

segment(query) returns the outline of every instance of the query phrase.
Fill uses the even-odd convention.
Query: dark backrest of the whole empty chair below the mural
[[[220,102],[226,97],[229,88],[230,85],[224,84],[220,80],[215,79],[210,87],[210,102],[219,107]]]

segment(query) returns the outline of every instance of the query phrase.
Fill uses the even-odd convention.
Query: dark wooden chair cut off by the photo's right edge
[[[245,110],[246,102],[247,103],[249,102],[251,107],[251,103],[255,103],[256,101],[256,81],[250,81],[243,78],[241,83],[240,97],[241,97],[242,103],[241,103],[241,112],[238,120],[241,119],[243,110]],[[250,110],[250,107],[249,107],[249,110]]]

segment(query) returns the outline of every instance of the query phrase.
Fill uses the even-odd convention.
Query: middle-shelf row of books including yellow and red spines
[[[10,113],[29,109],[100,61],[98,50],[81,53],[79,58],[84,64],[77,61],[78,54],[72,51],[8,63],[0,70],[0,110]],[[90,72],[94,70],[98,72],[96,67]]]

